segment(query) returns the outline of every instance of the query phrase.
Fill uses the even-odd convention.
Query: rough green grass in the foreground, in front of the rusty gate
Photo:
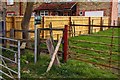
[[[31,54],[24,56],[28,55]],[[118,78],[117,75],[112,74],[110,71],[101,70],[94,65],[72,59],[69,59],[67,63],[61,63],[60,67],[53,66],[46,73],[50,61],[48,55],[41,55],[36,64],[31,60],[28,59],[28,64],[22,64],[22,78]]]

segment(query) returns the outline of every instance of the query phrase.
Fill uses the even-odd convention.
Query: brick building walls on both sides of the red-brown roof
[[[55,0],[53,0],[55,1]],[[11,2],[4,3],[7,15],[23,15],[25,11],[26,3],[23,2]],[[34,9],[40,6],[40,3],[37,2],[34,5]],[[110,0],[110,2],[77,2],[72,10],[64,9],[65,15],[71,14],[75,16],[109,16],[113,20],[117,20],[118,17],[118,0]],[[71,8],[70,6],[69,8]],[[43,7],[44,8],[44,7]],[[58,10],[58,9],[56,9]],[[54,10],[52,10],[54,12]],[[57,11],[58,12],[58,11]],[[56,13],[58,14],[58,13]],[[64,16],[64,15],[62,15]]]

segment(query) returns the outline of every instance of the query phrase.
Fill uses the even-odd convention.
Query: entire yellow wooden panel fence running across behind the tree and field
[[[23,17],[15,16],[15,17],[7,17],[6,18],[6,35],[10,37],[10,29],[14,28],[17,30],[21,30],[21,21]],[[72,23],[74,24],[81,24],[81,25],[109,25],[109,17],[82,17],[82,16],[45,16],[42,18],[41,24],[38,25],[38,28],[49,28],[50,22],[52,23],[53,28],[64,28],[65,25],[69,25]],[[93,30],[99,31],[100,28],[94,27]],[[34,30],[34,17],[31,18],[29,24],[29,30]],[[88,31],[88,27],[76,27],[75,28],[76,34],[79,34],[82,31],[82,34],[85,34]],[[95,31],[93,31],[95,32]],[[53,31],[54,39],[59,38],[62,36],[62,32],[60,31]],[[43,31],[42,34],[43,38],[49,37],[49,31]],[[30,38],[34,37],[34,33],[30,33]],[[16,39],[22,39],[22,32],[15,32]]]

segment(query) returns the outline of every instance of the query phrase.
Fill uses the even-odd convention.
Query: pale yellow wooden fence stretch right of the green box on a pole
[[[74,24],[81,24],[81,25],[109,25],[109,17],[83,17],[83,16],[45,16],[42,19],[42,27],[48,28],[50,22],[52,23],[53,28],[64,28],[64,25],[69,25],[72,23]],[[102,22],[102,24],[101,24]],[[94,27],[94,26],[93,26]],[[104,28],[107,29],[107,28]],[[98,32],[100,28],[94,27],[93,32]],[[75,33],[78,35],[80,31],[82,34],[88,32],[88,27],[80,26],[75,27]],[[43,32],[44,38],[49,36],[49,31]],[[62,32],[54,31],[53,32],[54,38],[57,39],[62,35]]]

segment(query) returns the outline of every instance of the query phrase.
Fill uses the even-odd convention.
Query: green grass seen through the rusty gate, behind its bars
[[[100,31],[97,33],[94,33],[92,35],[106,35],[106,36],[112,36],[112,31],[114,31],[113,35],[114,36],[119,36],[119,30],[120,29],[108,29],[105,31]],[[96,63],[102,63],[102,64],[108,64],[109,65],[109,58],[110,58],[110,50],[113,52],[111,55],[111,60],[119,61],[118,55],[119,55],[119,49],[118,46],[106,46],[106,45],[101,45],[101,44],[93,44],[93,43],[87,43],[87,42],[77,42],[78,40],[84,40],[84,41],[90,41],[90,42],[102,42],[106,44],[111,44],[111,38],[108,37],[98,37],[98,36],[77,36],[77,37],[72,37],[69,39],[69,46],[76,46],[76,47],[82,47],[82,48],[89,48],[89,49],[94,49],[94,50],[99,50],[99,51],[108,51],[109,53],[98,53],[90,50],[83,50],[83,49],[76,49],[76,48],[69,48],[70,52],[72,53],[71,56],[76,55],[75,58],[81,58],[85,59],[91,62],[96,62]],[[113,44],[118,45],[118,38],[113,39]],[[81,56],[81,54],[85,54],[85,56]],[[89,55],[89,56],[86,56]],[[95,57],[100,57],[102,59],[95,59],[92,58],[93,56]],[[113,66],[117,66],[118,63],[112,62]]]

